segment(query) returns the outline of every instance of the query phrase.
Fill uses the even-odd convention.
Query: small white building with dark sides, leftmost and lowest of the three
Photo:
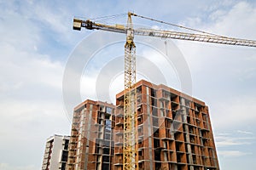
[[[42,170],[65,170],[69,136],[54,135],[46,141]]]

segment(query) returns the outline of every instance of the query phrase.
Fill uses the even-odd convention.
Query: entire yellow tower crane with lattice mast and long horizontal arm
[[[77,18],[73,19],[73,30],[81,30],[82,27],[88,30],[102,30],[112,31],[126,34],[125,42],[125,93],[124,93],[124,144],[123,144],[123,169],[133,170],[137,169],[138,165],[138,154],[137,154],[137,111],[136,111],[136,45],[134,43],[134,35],[148,36],[148,37],[162,37],[172,38],[179,40],[189,40],[196,42],[211,42],[228,45],[248,46],[256,47],[256,41],[223,37],[215,34],[207,33],[205,31],[199,31],[200,33],[187,33],[181,31],[163,31],[154,30],[148,28],[133,28],[131,16],[137,16],[143,19],[154,20],[148,17],[137,15],[134,13],[128,13],[127,25],[106,25],[101,23],[93,22],[92,20],[80,20]],[[166,23],[160,20],[161,23]],[[168,24],[168,23],[166,23]],[[169,24],[172,25],[172,24]],[[177,26],[177,25],[172,25]],[[183,26],[179,26],[183,27]],[[183,27],[185,28],[185,27]],[[186,28],[190,31],[196,31],[194,29]]]

